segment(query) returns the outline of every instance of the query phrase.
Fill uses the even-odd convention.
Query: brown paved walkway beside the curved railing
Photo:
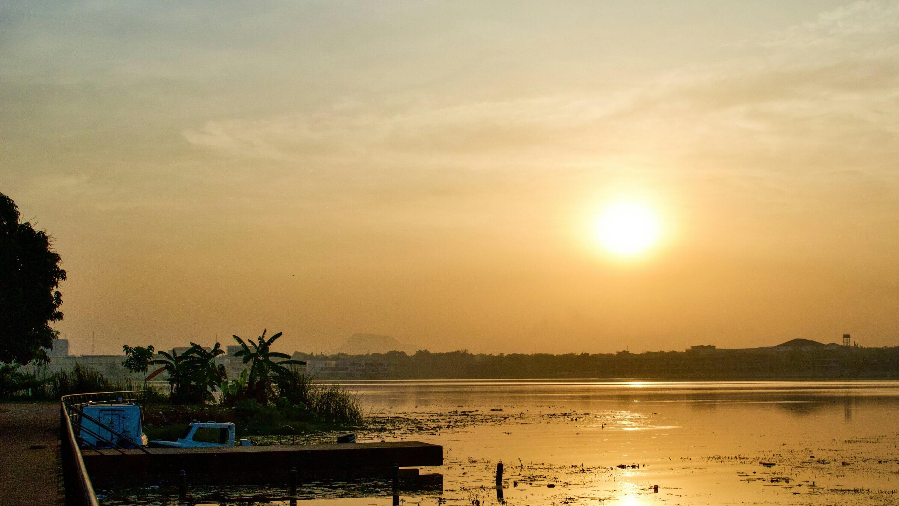
[[[64,503],[58,430],[58,402],[0,404],[0,506]]]

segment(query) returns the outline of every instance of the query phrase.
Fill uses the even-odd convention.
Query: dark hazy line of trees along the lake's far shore
[[[339,354],[327,358],[352,357]],[[364,358],[387,361],[393,379],[899,377],[899,347],[565,355],[420,350],[413,355],[390,351]]]

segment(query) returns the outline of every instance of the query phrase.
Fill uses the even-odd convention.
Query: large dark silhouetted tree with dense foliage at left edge
[[[0,194],[0,362],[24,364],[49,360],[66,271],[47,233],[19,218],[13,199]]]

